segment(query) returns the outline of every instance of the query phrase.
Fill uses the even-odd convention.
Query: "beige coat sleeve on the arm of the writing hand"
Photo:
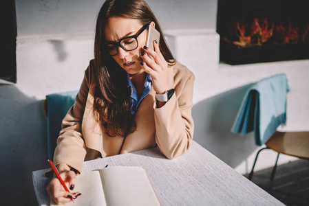
[[[81,124],[89,92],[89,82],[91,82],[89,79],[91,77],[89,67],[85,71],[85,76],[81,88],[76,95],[75,103],[63,119],[62,130],[57,139],[57,146],[54,152],[55,164],[66,163],[78,170],[78,172],[81,172],[87,153],[81,132]]]

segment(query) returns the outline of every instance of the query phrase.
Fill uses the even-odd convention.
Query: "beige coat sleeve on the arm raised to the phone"
[[[194,80],[195,76],[190,71],[187,77],[175,85],[175,93],[164,106],[161,108],[154,106],[156,143],[169,159],[187,152],[193,138],[191,108]]]

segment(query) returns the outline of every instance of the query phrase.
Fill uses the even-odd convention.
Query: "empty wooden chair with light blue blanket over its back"
[[[286,75],[278,74],[253,84],[248,89],[232,127],[233,133],[255,133],[255,144],[266,145],[257,152],[253,168],[248,176],[252,179],[257,157],[262,150],[278,152],[270,179],[274,179],[280,154],[309,160],[309,131],[279,132],[277,127],[286,123],[286,94],[290,91]]]

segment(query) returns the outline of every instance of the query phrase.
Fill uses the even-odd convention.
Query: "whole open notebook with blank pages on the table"
[[[76,206],[160,205],[146,170],[140,167],[107,167],[76,179],[74,192],[82,194]],[[50,205],[56,205],[52,199]]]

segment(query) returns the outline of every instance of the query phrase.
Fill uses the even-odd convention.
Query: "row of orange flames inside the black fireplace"
[[[309,43],[309,25],[300,30],[299,26],[292,25],[291,21],[275,24],[267,17],[253,18],[250,23],[246,23],[244,19],[235,21],[232,24],[232,32],[231,36],[235,38],[225,37],[224,40],[239,47],[269,43],[274,45]]]

